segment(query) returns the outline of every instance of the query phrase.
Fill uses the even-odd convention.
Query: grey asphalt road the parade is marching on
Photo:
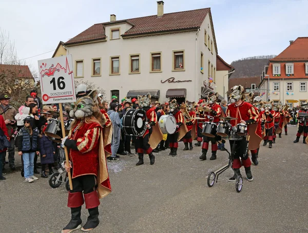
[[[307,145],[294,144],[296,127],[272,149],[261,145],[253,182],[215,183],[206,176],[227,164],[227,153],[200,161],[200,147],[178,156],[156,153],[155,165],[135,166],[137,157],[108,162],[112,192],[101,200],[98,232],[308,232]],[[210,155],[208,156],[208,158]],[[241,173],[245,178],[245,171]],[[232,170],[222,179],[232,176]],[[48,179],[24,183],[20,172],[0,181],[0,232],[61,232],[70,220],[64,185],[52,189]],[[82,210],[83,224],[87,211]],[[80,232],[79,230],[74,232]]]

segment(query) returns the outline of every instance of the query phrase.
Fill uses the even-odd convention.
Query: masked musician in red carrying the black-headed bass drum
[[[150,164],[153,165],[155,163],[155,156],[152,153],[152,148],[149,144],[149,138],[152,133],[153,126],[156,126],[157,123],[157,115],[154,108],[150,107],[151,95],[148,93],[147,95],[138,95],[139,106],[145,111],[146,117],[148,119],[148,124],[146,125],[147,129],[142,135],[142,137],[137,137],[138,146],[138,158],[139,161],[136,166],[144,164],[143,162],[143,154],[147,153],[150,158]]]

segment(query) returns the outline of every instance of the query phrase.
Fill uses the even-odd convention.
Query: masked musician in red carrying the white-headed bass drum
[[[182,125],[184,125],[184,123],[185,123],[184,122],[183,114],[179,110],[179,105],[178,105],[176,99],[173,99],[171,101],[171,103],[170,103],[170,112],[171,112],[172,115],[175,116],[176,121],[177,121],[177,125],[176,125],[177,129],[176,129],[176,131],[174,133],[172,133],[172,134],[169,134],[170,135],[170,143],[169,143],[170,153],[169,153],[169,156],[175,157],[175,156],[177,156],[177,150],[178,150],[178,147],[179,147],[178,140],[181,139],[179,137],[179,135],[180,135],[180,127]],[[187,128],[186,128],[186,132],[187,132]],[[185,134],[186,134],[186,132],[185,132]]]

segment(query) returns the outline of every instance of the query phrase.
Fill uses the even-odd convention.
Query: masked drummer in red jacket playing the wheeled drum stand
[[[232,168],[234,169],[235,174],[229,180],[235,180],[237,176],[241,176],[240,167],[243,164],[247,175],[247,180],[253,181],[254,178],[251,171],[252,162],[248,157],[248,142],[249,138],[254,136],[254,132],[249,134],[249,131],[251,131],[249,130],[249,126],[252,126],[252,124],[256,124],[259,121],[259,116],[252,104],[243,101],[244,87],[242,87],[241,85],[234,86],[231,91],[232,93],[230,94],[230,102],[232,104],[228,106],[226,115],[238,119],[230,121],[230,124],[233,127],[236,126],[238,123],[247,125],[248,135],[247,137],[243,137],[242,140],[230,140],[231,148],[233,148],[233,145],[235,143],[235,151],[233,151],[234,161],[232,164]]]

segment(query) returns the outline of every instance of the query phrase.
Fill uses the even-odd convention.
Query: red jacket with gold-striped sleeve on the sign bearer
[[[99,138],[102,126],[98,122],[85,123],[79,126],[78,120],[70,130],[68,139],[76,140],[78,150],[70,149],[69,157],[73,164],[72,178],[94,174],[98,176]]]

